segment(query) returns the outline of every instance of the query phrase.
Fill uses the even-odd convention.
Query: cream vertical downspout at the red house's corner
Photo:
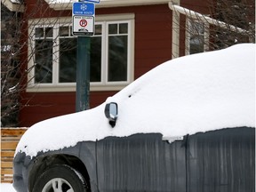
[[[168,4],[172,10],[172,59],[180,57],[180,12],[172,9],[174,4],[180,5],[180,0]]]

